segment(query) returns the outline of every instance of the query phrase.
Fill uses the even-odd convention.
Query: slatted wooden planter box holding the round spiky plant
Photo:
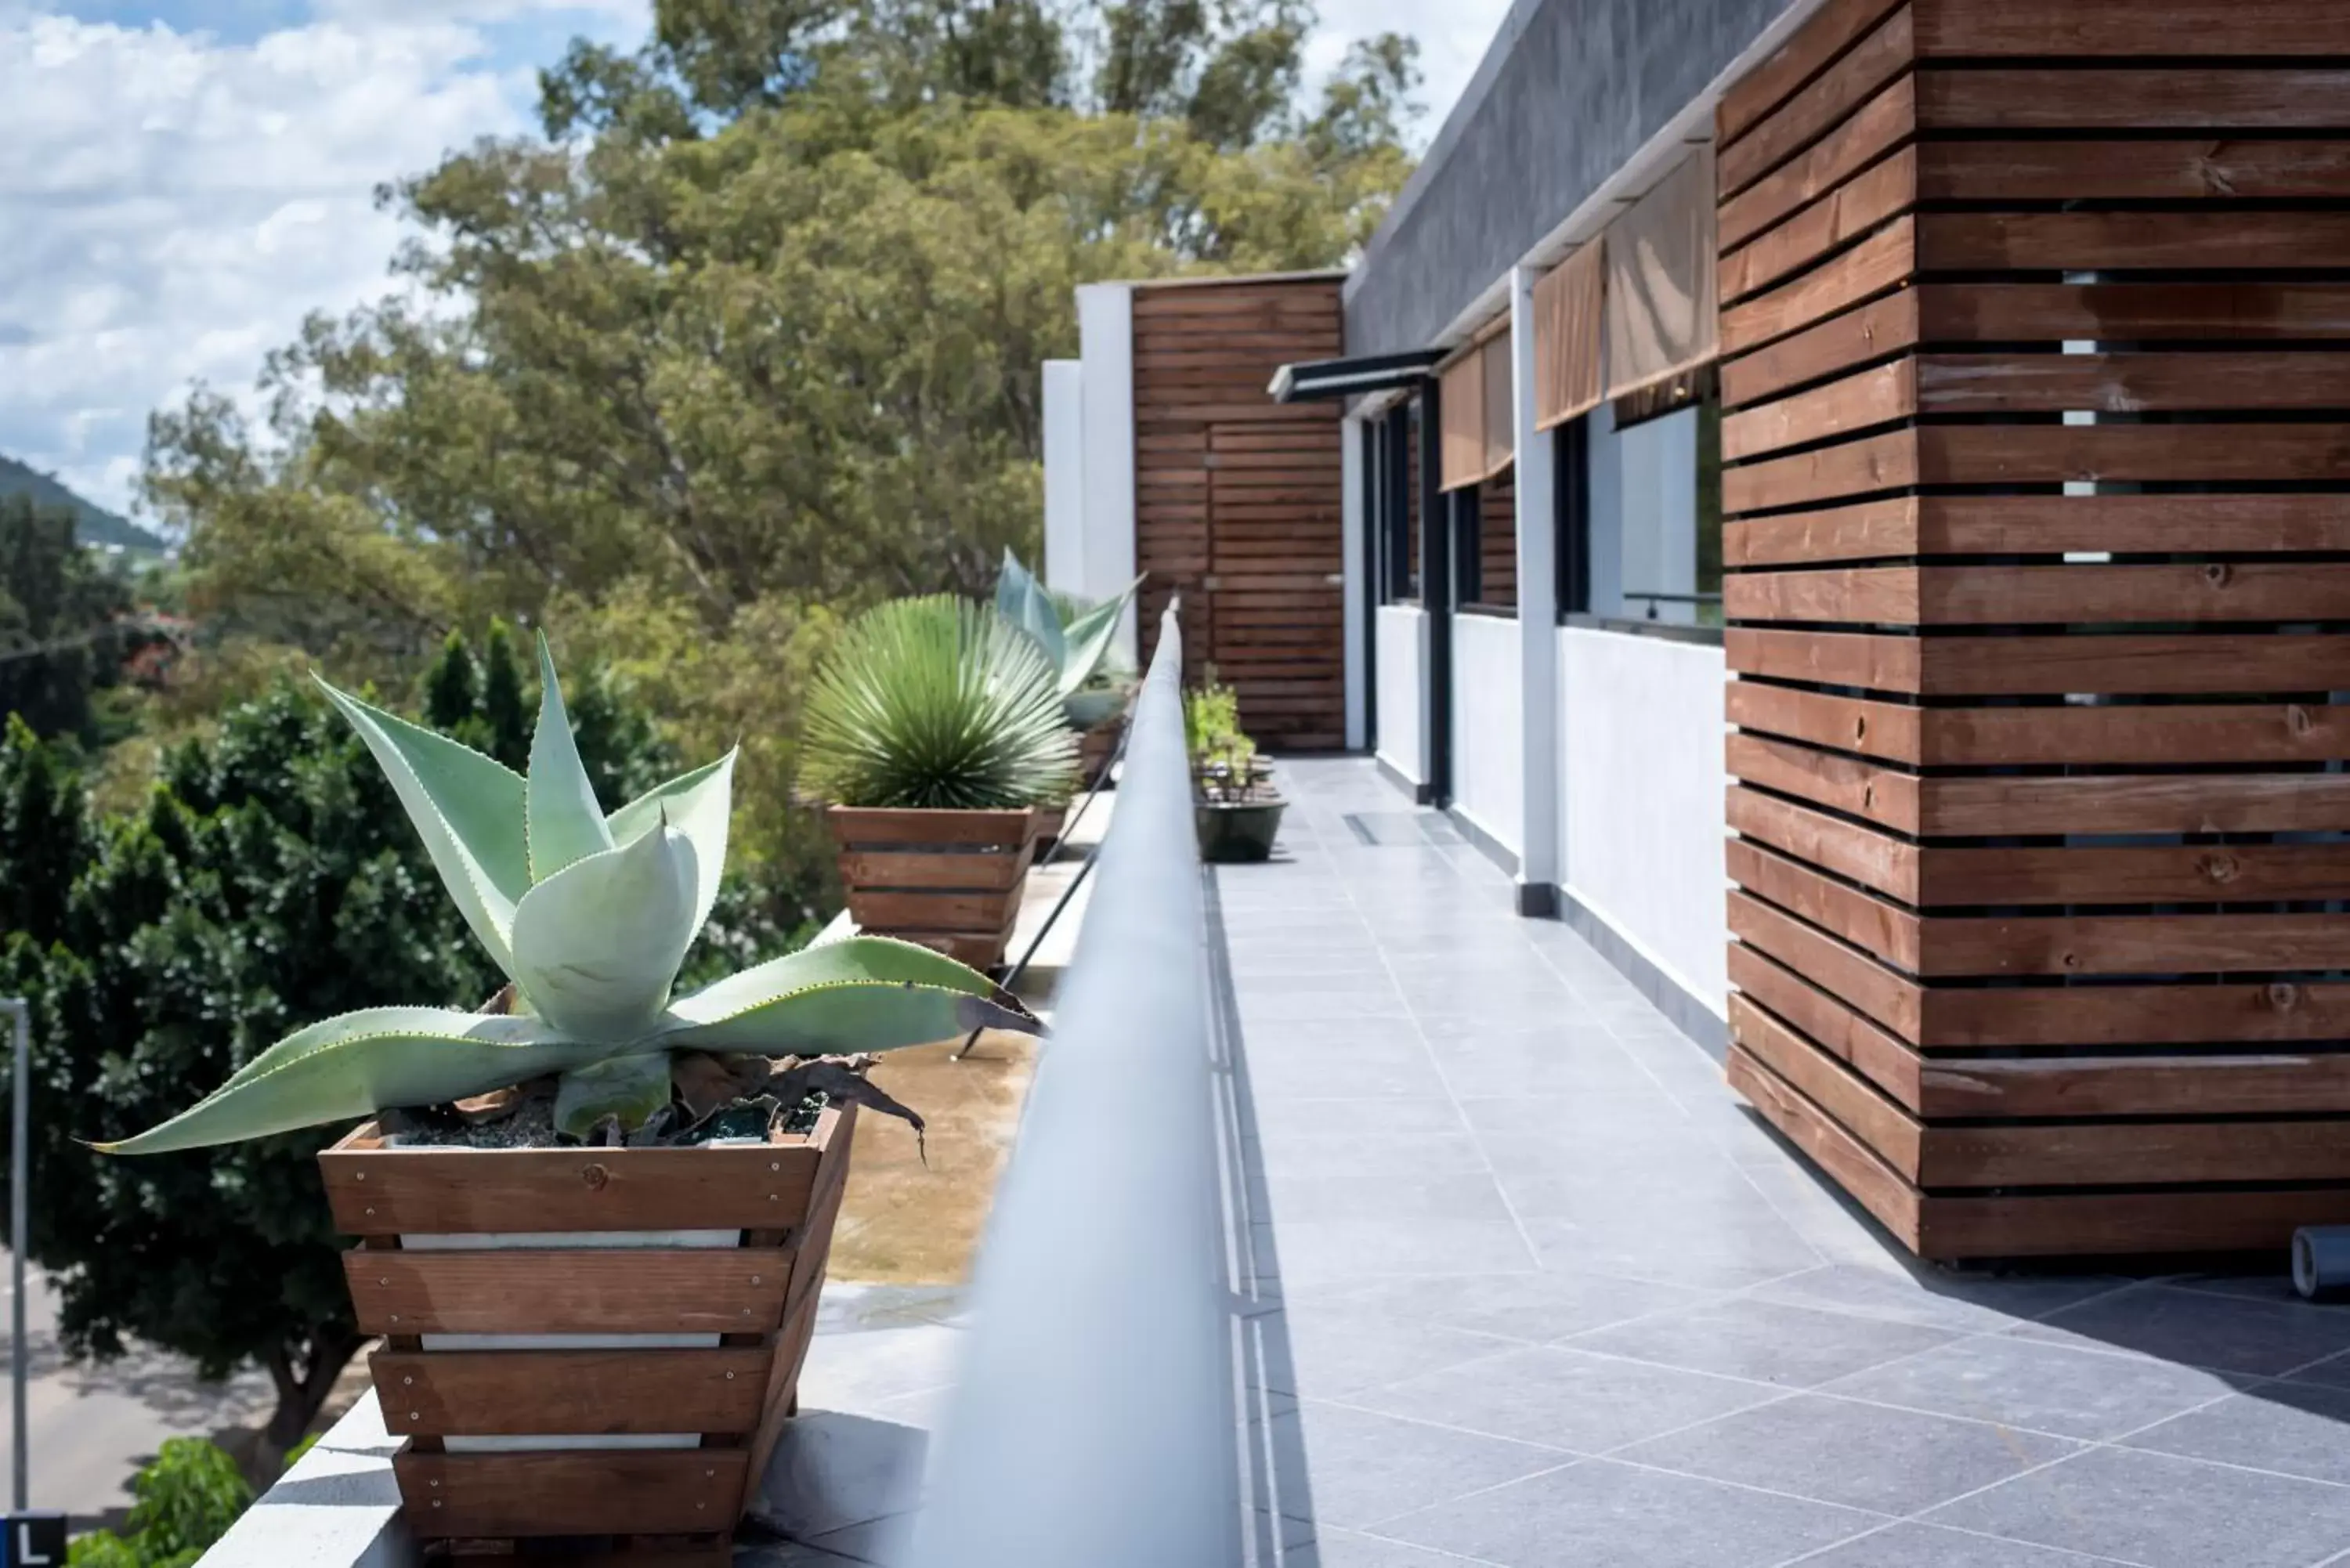
[[[938,947],[973,969],[1003,964],[1036,811],[874,811],[832,806],[848,917],[877,936]]]

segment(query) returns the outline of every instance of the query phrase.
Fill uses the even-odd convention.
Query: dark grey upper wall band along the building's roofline
[[[1788,0],[1516,0],[1347,280],[1347,353],[1426,348]]]

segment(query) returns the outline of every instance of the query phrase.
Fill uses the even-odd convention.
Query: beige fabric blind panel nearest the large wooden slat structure
[[[1692,150],[1607,226],[1607,395],[1622,397],[1713,360],[1713,148]]]

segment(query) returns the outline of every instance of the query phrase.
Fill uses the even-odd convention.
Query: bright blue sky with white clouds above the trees
[[[1506,0],[1323,0],[1309,52],[1417,33],[1443,120]],[[0,0],[0,454],[127,510],[146,416],[247,390],[308,310],[385,289],[378,181],[524,129],[573,35],[651,0]]]

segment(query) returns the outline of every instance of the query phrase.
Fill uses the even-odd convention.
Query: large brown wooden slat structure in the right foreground
[[[2341,59],[1831,0],[1720,106],[1730,1077],[1929,1258],[2350,1220]]]

